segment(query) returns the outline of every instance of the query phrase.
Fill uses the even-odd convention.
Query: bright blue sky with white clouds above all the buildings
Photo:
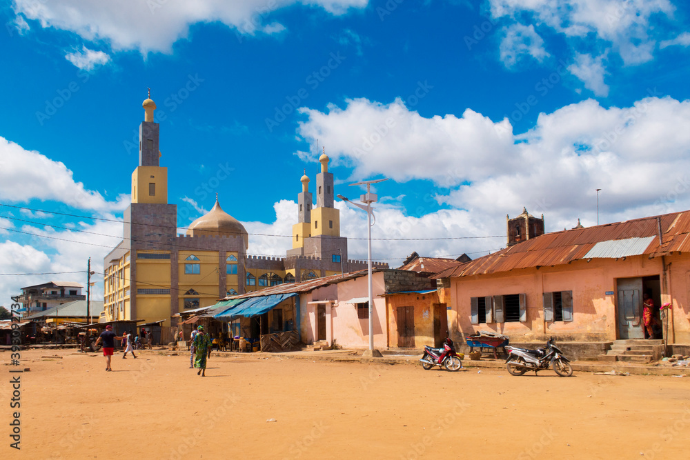
[[[523,206],[547,231],[690,208],[687,3],[234,3],[1,3],[0,272],[102,269],[148,87],[178,225],[218,192],[250,254],[290,245],[317,140],[338,193],[391,179],[373,252],[392,266],[500,249]],[[366,216],[337,206],[364,259]],[[46,278],[85,282],[0,276],[0,303]]]

